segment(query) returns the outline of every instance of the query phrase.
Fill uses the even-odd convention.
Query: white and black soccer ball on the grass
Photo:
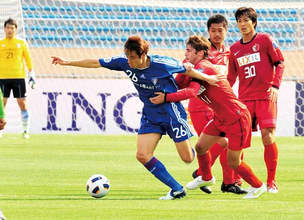
[[[87,181],[87,191],[94,198],[104,197],[110,190],[110,182],[104,175],[95,174]]]

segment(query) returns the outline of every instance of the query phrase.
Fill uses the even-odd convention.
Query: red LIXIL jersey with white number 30
[[[234,43],[230,51],[227,80],[233,86],[239,77],[239,99],[270,99],[271,86],[279,88],[283,76],[283,71],[275,75],[274,67],[284,61],[272,36],[256,33],[248,43],[243,43],[242,39]]]

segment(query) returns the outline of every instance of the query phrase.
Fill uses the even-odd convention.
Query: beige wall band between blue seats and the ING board
[[[111,70],[78,68],[67,66],[54,66],[51,64],[51,56],[57,55],[70,60],[78,60],[82,58],[103,58],[117,54],[122,54],[123,49],[75,49],[75,48],[31,48],[34,68],[37,77],[85,77],[93,75],[95,77],[102,76],[121,76],[125,77],[123,72],[113,72]],[[169,49],[150,49],[149,54],[158,54],[172,56],[178,60],[184,59],[184,50],[169,50]],[[302,78],[304,79],[304,68],[302,62],[304,60],[304,51],[283,51],[285,72],[284,78]]]

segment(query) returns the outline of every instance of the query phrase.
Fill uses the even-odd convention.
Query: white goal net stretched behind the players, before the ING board
[[[55,66],[51,56],[111,57],[123,53],[128,36],[138,34],[149,42],[149,54],[183,60],[188,36],[208,37],[207,20],[214,14],[229,21],[224,44],[239,40],[234,12],[247,6],[258,13],[257,31],[271,34],[285,58],[277,135],[303,135],[301,1],[21,0],[21,7],[19,1],[11,2],[0,0],[0,22],[7,17],[20,21],[18,31],[24,27],[30,46],[37,77],[36,89],[28,89],[32,133],[125,134],[137,132],[139,125],[142,104],[124,72]],[[19,113],[13,118],[19,118]],[[7,121],[6,132],[20,130],[10,114]]]

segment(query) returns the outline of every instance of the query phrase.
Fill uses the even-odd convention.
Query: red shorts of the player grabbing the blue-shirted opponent
[[[216,117],[203,130],[204,134],[228,138],[228,149],[240,151],[249,148],[251,141],[251,119],[248,111],[234,124],[227,125]]]

